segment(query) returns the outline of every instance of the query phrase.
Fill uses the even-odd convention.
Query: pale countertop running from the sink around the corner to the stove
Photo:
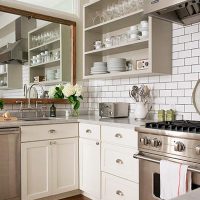
[[[78,118],[74,117],[58,117],[51,118],[50,120],[40,121],[5,121],[0,122],[0,128],[4,127],[20,127],[20,126],[33,126],[33,125],[47,125],[47,124],[62,124],[62,123],[90,123],[98,125],[116,126],[121,128],[135,128],[136,126],[144,126],[145,122],[137,122],[132,118],[100,118],[93,115],[81,115]]]

